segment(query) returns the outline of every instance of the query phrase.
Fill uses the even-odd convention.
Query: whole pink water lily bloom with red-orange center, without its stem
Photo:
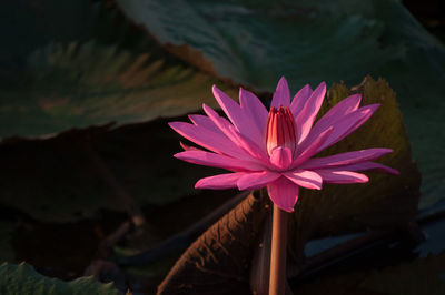
[[[197,189],[267,186],[271,201],[281,210],[293,212],[300,186],[320,190],[323,183],[367,182],[368,177],[358,171],[398,174],[372,162],[393,152],[389,149],[313,157],[349,135],[377,110],[379,104],[359,108],[360,94],[344,99],[314,124],[326,94],[324,82],[314,91],[305,85],[290,102],[287,81],[281,78],[269,112],[255,94],[244,89],[239,90],[240,104],[215,85],[212,92],[229,120],[204,104],[207,115],[189,115],[191,124],[169,123],[180,135],[207,150],[182,145],[186,151],[175,157],[231,171],[199,180]]]

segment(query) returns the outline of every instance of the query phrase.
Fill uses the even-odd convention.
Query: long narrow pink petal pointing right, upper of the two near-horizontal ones
[[[335,154],[325,157],[316,157],[316,159],[310,159],[306,161],[304,164],[301,164],[301,169],[322,169],[329,166],[355,164],[358,162],[378,159],[382,155],[390,152],[393,152],[393,150],[390,149],[368,149],[368,150]]]

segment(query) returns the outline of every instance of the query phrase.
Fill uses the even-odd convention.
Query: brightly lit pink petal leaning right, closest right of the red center
[[[322,82],[316,90],[307,99],[303,110],[296,115],[295,123],[297,126],[298,143],[303,142],[313,126],[319,108],[326,94],[326,84]]]

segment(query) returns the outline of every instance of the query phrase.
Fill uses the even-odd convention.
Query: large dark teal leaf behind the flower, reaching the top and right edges
[[[445,49],[400,1],[117,0],[149,35],[196,67],[256,90],[385,77],[398,94],[425,208],[445,196]]]

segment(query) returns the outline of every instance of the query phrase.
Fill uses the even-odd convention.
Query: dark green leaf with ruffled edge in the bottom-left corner
[[[46,277],[27,263],[3,263],[0,266],[1,294],[119,294],[112,283],[100,284],[93,277],[80,277],[69,283]]]

